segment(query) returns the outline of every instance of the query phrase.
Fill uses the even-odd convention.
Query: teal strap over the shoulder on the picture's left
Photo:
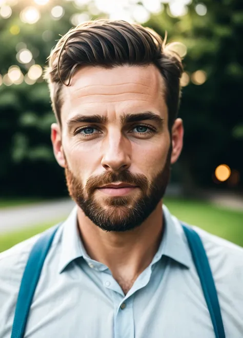
[[[45,231],[34,244],[19,288],[11,338],[23,338],[30,306],[42,267],[59,224]]]

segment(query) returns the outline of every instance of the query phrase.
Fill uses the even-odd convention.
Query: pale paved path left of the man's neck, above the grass
[[[64,220],[74,206],[68,198],[54,202],[0,209],[0,233]]]

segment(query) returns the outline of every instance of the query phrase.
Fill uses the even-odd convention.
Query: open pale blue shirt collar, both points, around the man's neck
[[[163,205],[164,234],[151,265],[161,259],[163,255],[183,264],[187,268],[191,266],[191,255],[183,228],[176,217],[172,216],[168,208]],[[62,273],[72,261],[84,257],[88,264],[105,270],[102,263],[91,260],[87,254],[77,228],[77,206],[75,206],[63,223],[62,242],[59,259],[59,273]]]

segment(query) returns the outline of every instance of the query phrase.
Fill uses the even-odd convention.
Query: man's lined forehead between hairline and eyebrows
[[[141,110],[167,113],[164,79],[154,65],[79,69],[71,79],[71,86],[63,87],[62,96],[63,124],[80,113],[114,118]]]

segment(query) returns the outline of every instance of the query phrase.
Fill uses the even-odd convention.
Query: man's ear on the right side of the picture
[[[172,138],[171,164],[175,163],[178,160],[178,157],[181,153],[181,150],[183,148],[183,135],[184,135],[183,121],[181,120],[181,118],[176,118],[171,131]]]

